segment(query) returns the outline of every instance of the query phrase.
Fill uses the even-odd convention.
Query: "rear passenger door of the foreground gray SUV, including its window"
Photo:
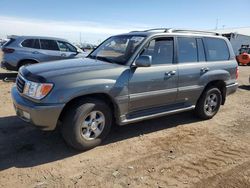
[[[200,78],[209,71],[206,62],[203,38],[177,37],[178,54],[178,97],[186,106],[194,105],[204,86]]]

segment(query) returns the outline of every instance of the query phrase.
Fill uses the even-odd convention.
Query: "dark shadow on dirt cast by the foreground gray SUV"
[[[192,112],[115,126],[103,145],[199,121]],[[0,117],[0,170],[33,167],[79,154],[68,147],[60,131],[43,132],[15,116]]]

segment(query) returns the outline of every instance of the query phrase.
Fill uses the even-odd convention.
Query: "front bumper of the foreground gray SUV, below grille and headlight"
[[[16,114],[42,130],[54,130],[64,104],[39,104],[22,97],[16,86],[11,90]]]

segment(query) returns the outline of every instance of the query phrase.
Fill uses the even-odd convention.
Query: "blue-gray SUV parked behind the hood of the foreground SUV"
[[[23,65],[87,55],[67,40],[52,37],[11,36],[1,50],[1,67],[14,71]]]

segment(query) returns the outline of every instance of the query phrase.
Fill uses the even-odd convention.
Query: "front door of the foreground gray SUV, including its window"
[[[177,96],[178,70],[174,64],[174,40],[152,40],[141,55],[152,56],[150,67],[131,68],[129,112],[174,104]]]

